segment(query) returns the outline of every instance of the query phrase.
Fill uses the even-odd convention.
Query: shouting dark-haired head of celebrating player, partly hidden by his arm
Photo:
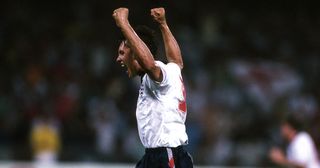
[[[147,26],[138,26],[135,28],[135,32],[147,45],[152,55],[155,56],[158,48],[153,30]],[[136,75],[144,74],[144,70],[136,60],[135,53],[131,50],[131,45],[132,44],[129,44],[125,38],[121,40],[116,61],[120,63],[122,67],[127,67],[129,77],[134,77]]]

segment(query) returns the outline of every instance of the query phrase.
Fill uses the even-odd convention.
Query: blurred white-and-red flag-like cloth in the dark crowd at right
[[[294,71],[275,62],[235,60],[230,69],[252,101],[261,106],[261,112],[270,112],[279,98],[295,94],[302,83]]]

